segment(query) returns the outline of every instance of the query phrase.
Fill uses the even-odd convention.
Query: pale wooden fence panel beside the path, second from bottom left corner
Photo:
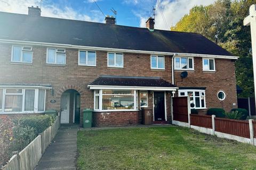
[[[41,135],[38,135],[29,145],[20,151],[20,170],[34,170],[42,157]]]

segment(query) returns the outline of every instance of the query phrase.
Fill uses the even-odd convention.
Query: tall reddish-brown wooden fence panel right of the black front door
[[[173,97],[173,120],[188,123],[188,98]]]

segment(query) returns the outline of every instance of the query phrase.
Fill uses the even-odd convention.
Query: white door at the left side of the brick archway
[[[69,94],[63,94],[60,99],[60,123],[69,123]]]

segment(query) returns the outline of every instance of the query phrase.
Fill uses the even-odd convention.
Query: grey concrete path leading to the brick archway
[[[76,170],[78,125],[61,125],[36,170]]]

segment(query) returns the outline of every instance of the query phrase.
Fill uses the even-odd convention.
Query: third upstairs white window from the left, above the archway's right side
[[[96,52],[79,50],[78,65],[96,66]]]

